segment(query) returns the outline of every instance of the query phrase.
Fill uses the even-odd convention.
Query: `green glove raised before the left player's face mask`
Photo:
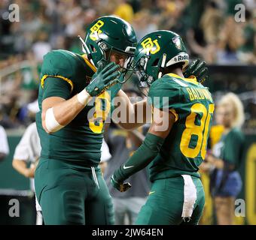
[[[100,95],[106,89],[117,83],[117,77],[120,76],[120,72],[117,69],[120,68],[114,62],[109,63],[103,69],[93,74],[92,81],[85,88],[88,94],[92,97]]]

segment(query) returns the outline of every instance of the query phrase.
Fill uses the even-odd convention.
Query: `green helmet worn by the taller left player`
[[[133,60],[137,38],[130,23],[119,17],[105,16],[90,24],[85,40],[81,41],[83,52],[96,68],[108,64],[112,51],[126,55],[124,68],[127,68]]]

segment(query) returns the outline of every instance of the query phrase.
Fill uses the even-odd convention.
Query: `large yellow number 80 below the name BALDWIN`
[[[191,107],[191,113],[186,118],[186,128],[181,136],[181,152],[185,157],[197,157],[200,154],[203,159],[206,157],[206,144],[207,136],[209,133],[209,123],[215,109],[214,104],[209,104],[209,110],[203,104],[194,104]],[[203,113],[200,120],[200,125],[195,124],[195,120],[198,113]],[[189,143],[192,135],[197,136],[197,145],[195,148],[190,148]]]

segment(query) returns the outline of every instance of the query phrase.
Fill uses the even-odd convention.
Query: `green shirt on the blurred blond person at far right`
[[[226,165],[238,166],[242,157],[244,136],[234,131],[229,141],[224,145],[224,161]],[[226,166],[227,167],[227,166]]]

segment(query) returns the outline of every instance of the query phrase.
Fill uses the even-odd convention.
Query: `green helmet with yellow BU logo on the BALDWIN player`
[[[165,68],[177,63],[188,65],[189,56],[181,37],[173,31],[154,31],[136,46],[134,68],[141,83],[149,85],[163,75]]]

